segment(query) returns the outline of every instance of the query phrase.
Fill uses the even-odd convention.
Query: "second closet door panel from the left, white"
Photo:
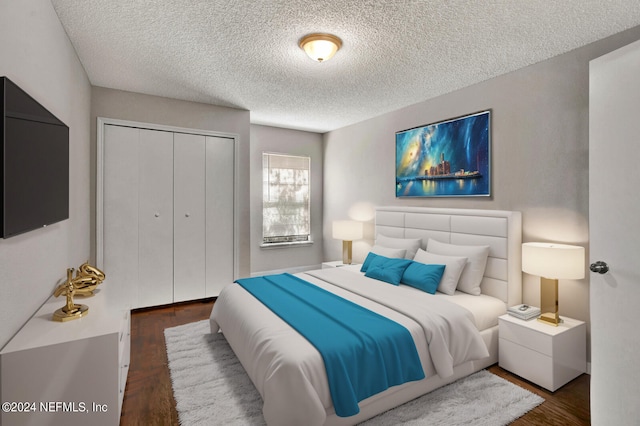
[[[138,306],[173,302],[173,133],[140,130]]]

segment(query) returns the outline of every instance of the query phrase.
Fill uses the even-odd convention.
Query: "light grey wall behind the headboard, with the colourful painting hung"
[[[500,77],[325,134],[325,260],[340,258],[330,223],[368,220],[354,242],[372,244],[373,206],[519,210],[523,241],[588,250],[589,60],[640,38],[640,27]],[[425,76],[429,78],[429,76]],[[395,132],[491,109],[490,198],[395,197]],[[538,277],[523,276],[524,302],[539,304]],[[589,320],[589,278],[560,283],[560,313]]]

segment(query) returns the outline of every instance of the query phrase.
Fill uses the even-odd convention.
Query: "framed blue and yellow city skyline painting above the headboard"
[[[491,111],[396,133],[396,197],[491,195]]]

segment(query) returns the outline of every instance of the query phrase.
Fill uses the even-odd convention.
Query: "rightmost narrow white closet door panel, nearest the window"
[[[234,151],[233,139],[207,137],[207,297],[233,283]]]

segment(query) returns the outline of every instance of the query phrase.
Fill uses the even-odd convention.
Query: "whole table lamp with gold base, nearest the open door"
[[[558,280],[584,278],[584,247],[555,243],[522,244],[522,271],[540,277],[538,321],[558,326]]]

